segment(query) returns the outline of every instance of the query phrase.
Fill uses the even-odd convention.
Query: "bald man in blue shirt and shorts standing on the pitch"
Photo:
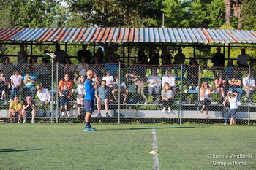
[[[97,76],[94,77],[94,74],[91,70],[86,72],[87,79],[84,82],[84,88],[86,90],[86,96],[84,96],[84,106],[86,107],[86,117],[85,122],[86,126],[84,131],[95,131],[95,128],[92,128],[90,125],[91,114],[94,112],[94,94],[95,90],[98,89],[99,82]],[[94,78],[94,82],[91,80]]]

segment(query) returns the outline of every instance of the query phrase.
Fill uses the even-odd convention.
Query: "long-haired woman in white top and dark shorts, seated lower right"
[[[206,117],[209,117],[208,106],[211,104],[211,100],[211,88],[208,82],[203,82],[200,88],[200,104],[203,106],[200,112],[203,113],[203,110],[206,110]]]

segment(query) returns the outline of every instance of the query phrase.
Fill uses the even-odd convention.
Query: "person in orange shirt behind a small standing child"
[[[59,96],[60,96],[60,97],[66,96],[66,98],[64,98],[64,99],[66,99],[67,102],[66,102],[66,101],[64,101],[64,102],[67,103],[67,111],[65,110],[67,116],[71,116],[71,115],[69,114],[69,100],[70,100],[70,97],[71,97],[71,95],[72,95],[72,85],[73,85],[72,81],[69,80],[69,74],[65,73],[65,74],[64,74],[64,79],[62,79],[62,80],[59,81],[58,92],[59,92]],[[61,90],[64,90],[64,86],[66,86],[65,88],[67,88],[67,94],[66,94],[66,92],[64,92],[64,91],[61,92]],[[64,94],[63,94],[63,93],[64,93]],[[65,109],[66,109],[66,108],[65,108]],[[62,110],[61,110],[61,115],[62,115],[62,116],[65,116],[65,112],[62,112]]]

